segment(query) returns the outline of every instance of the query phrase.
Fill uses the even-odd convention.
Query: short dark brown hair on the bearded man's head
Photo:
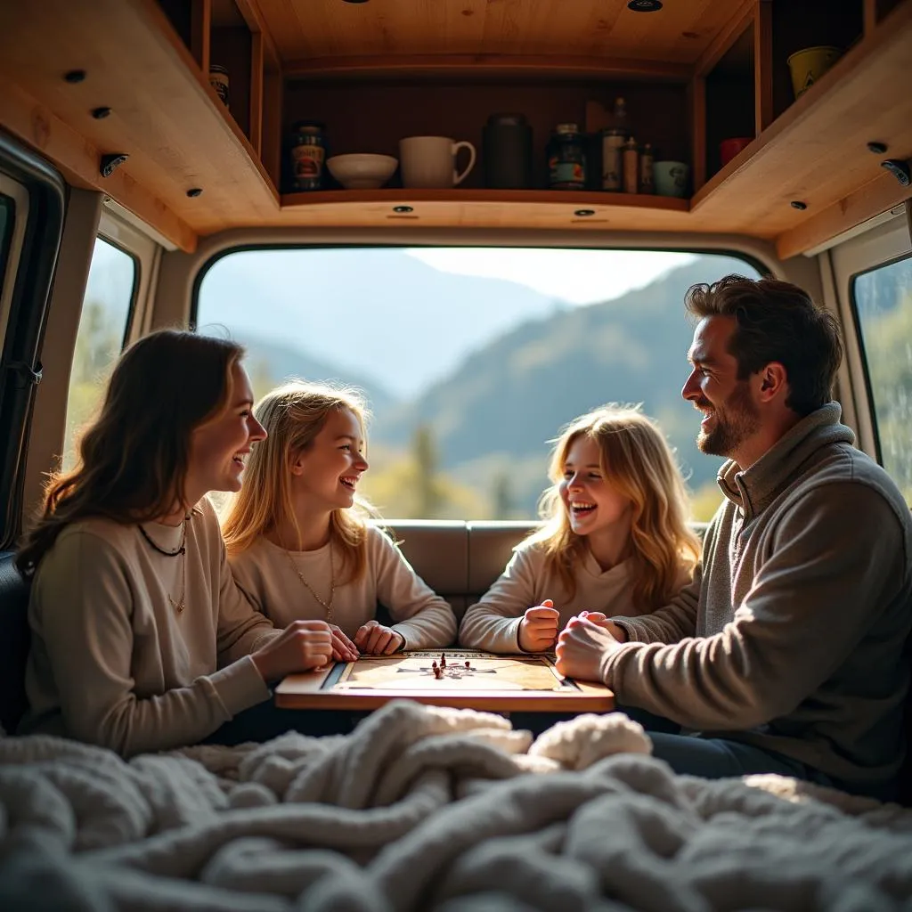
[[[729,353],[738,361],[739,379],[778,361],[788,374],[785,404],[794,412],[809,415],[832,399],[843,358],[839,326],[803,288],[769,277],[726,275],[711,285],[691,285],[684,300],[700,319],[734,317]]]

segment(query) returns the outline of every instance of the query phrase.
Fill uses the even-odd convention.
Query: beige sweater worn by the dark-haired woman
[[[144,528],[165,550],[181,542],[180,527]],[[234,585],[207,500],[187,523],[186,549],[159,554],[135,524],[67,526],[32,586],[22,733],[131,756],[200,741],[269,697],[249,654],[279,631]],[[184,572],[178,612],[168,596],[180,603]]]

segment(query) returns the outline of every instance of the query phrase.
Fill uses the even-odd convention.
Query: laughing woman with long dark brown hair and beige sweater
[[[265,431],[232,342],[161,330],[128,348],[75,470],[16,563],[34,577],[22,733],[124,756],[201,741],[326,663],[329,628],[275,627],[234,586],[205,494],[238,491]]]

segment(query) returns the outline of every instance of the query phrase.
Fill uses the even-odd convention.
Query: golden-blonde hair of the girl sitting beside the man
[[[553,482],[539,510],[544,527],[530,536],[544,545],[545,564],[575,595],[573,567],[584,559],[586,536],[570,527],[560,484],[567,454],[582,436],[599,451],[602,477],[633,504],[630,559],[634,563],[633,602],[651,611],[676,595],[681,570],[693,573],[700,560],[700,540],[688,526],[687,489],[665,437],[639,406],[615,403],[573,420],[554,441],[548,467]]]

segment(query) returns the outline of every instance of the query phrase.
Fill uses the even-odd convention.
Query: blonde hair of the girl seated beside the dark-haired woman
[[[297,528],[291,500],[291,467],[298,455],[313,445],[333,411],[350,411],[358,420],[367,442],[368,412],[357,389],[326,383],[292,380],[266,393],[254,415],[268,437],[260,440],[247,457],[244,486],[229,501],[222,534],[229,554],[240,554],[260,535],[285,520]],[[329,538],[342,554],[343,576],[357,579],[367,566],[367,523],[372,511],[356,496],[354,508],[334,510],[329,520]],[[289,542],[295,547],[297,543]]]

